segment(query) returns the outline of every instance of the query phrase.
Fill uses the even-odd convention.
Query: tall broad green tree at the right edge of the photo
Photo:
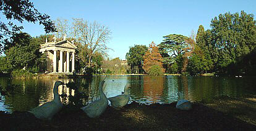
[[[211,44],[217,58],[216,69],[235,72],[236,63],[249,54],[256,45],[254,15],[225,13],[211,20]],[[231,73],[229,72],[229,73]]]

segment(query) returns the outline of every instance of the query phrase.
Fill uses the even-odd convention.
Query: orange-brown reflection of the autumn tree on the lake
[[[143,92],[150,97],[152,103],[156,103],[159,97],[163,95],[164,76],[144,76]]]

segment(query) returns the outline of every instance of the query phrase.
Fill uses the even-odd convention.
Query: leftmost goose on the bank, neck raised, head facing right
[[[34,114],[38,119],[50,120],[54,114],[58,113],[62,108],[61,98],[59,98],[58,87],[64,85],[64,82],[56,81],[53,87],[53,100],[41,106],[31,109],[29,113]]]

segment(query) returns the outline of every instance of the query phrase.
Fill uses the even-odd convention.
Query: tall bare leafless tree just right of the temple
[[[97,22],[88,23],[82,18],[74,18],[72,28],[74,39],[87,47],[88,67],[91,68],[95,52],[107,55],[106,52],[110,49],[107,44],[111,39],[111,31],[105,25]]]

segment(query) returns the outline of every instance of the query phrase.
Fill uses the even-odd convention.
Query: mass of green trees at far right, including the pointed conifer
[[[190,58],[191,73],[245,73],[248,65],[241,61],[256,46],[254,16],[244,11],[220,14],[211,20],[210,26],[207,31],[199,26],[197,48]]]

